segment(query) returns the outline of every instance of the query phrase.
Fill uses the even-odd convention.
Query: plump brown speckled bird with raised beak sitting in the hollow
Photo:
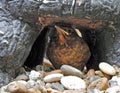
[[[68,26],[54,27],[57,35],[51,37],[48,44],[48,59],[57,69],[63,64],[83,69],[91,53],[79,30]]]

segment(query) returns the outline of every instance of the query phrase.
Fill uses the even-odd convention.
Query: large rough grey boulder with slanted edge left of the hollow
[[[5,0],[0,1],[0,83],[8,83],[24,64],[38,32],[11,16]],[[7,74],[5,74],[7,73]],[[3,76],[3,75],[4,76]],[[8,80],[6,80],[8,79]]]

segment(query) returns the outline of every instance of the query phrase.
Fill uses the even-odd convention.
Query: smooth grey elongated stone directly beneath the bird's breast
[[[83,77],[82,71],[70,66],[70,65],[62,65],[60,68],[64,75],[72,75],[72,76],[79,76]]]

